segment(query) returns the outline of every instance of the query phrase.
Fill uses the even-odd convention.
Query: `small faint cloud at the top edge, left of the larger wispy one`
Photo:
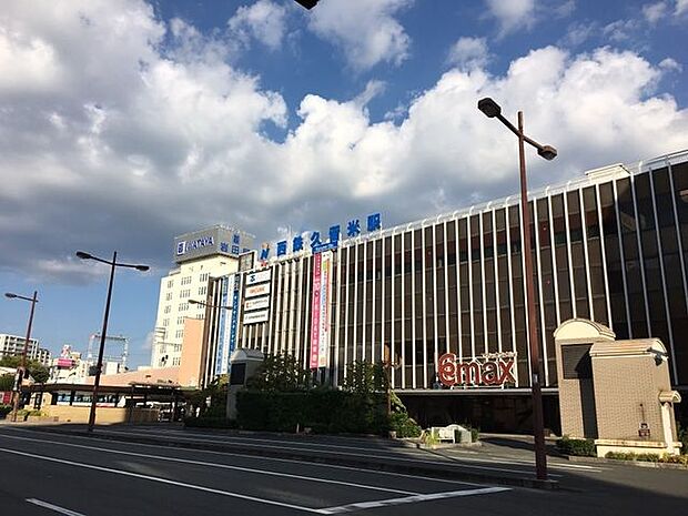
[[[251,38],[271,50],[282,45],[286,32],[286,9],[271,0],[259,0],[252,6],[242,6],[227,22],[230,32],[249,44]]]

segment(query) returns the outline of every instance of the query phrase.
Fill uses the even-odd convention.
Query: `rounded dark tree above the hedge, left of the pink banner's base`
[[[283,393],[304,391],[312,386],[312,374],[292,355],[267,354],[246,385],[254,391]]]

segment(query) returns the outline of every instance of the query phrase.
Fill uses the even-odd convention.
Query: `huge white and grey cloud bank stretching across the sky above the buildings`
[[[676,67],[631,51],[546,47],[500,75],[457,65],[394,120],[366,109],[378,81],[350,100],[310,94],[273,141],[264,128],[286,128],[282,97],[192,27],[163,47],[172,27],[145,3],[6,2],[0,27],[3,67],[33,52],[39,63],[19,79],[0,68],[0,234],[12,250],[0,270],[32,277],[83,281],[78,249],[117,246],[164,269],[175,234],[216,223],[260,242],[277,227],[326,231],[377,210],[388,227],[514,193],[516,143],[476,109],[486,95],[512,119],[524,110],[527,132],[559,150],[529,159],[534,188],[688,148],[688,112],[657,91]]]

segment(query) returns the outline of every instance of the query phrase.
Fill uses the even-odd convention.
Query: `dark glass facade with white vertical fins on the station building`
[[[688,388],[688,154],[593,171],[530,194],[529,210],[527,231],[510,196],[342,241],[321,374],[336,385],[346,364],[391,361],[395,389],[433,389],[444,353],[512,352],[516,385],[506,388],[527,387],[529,237],[546,387],[557,383],[554,331],[584,317],[618,338],[660,338],[674,384]],[[269,266],[270,320],[240,324],[240,345],[308,366],[313,256]]]

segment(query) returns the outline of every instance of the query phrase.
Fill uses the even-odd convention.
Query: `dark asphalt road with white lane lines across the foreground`
[[[105,432],[98,429],[99,433]],[[241,439],[243,445],[302,447],[399,461],[464,462],[449,453],[382,446],[366,439],[317,443],[282,437],[227,437],[160,428],[136,444],[0,426],[0,513],[11,515],[685,515],[688,472],[630,467],[558,468],[555,492],[472,484],[334,464],[171,447],[169,442]],[[253,442],[246,442],[254,439]],[[465,454],[468,465],[522,471],[518,451]],[[500,452],[500,453],[497,453]],[[488,458],[499,463],[485,462]],[[575,466],[575,465],[569,465]]]

